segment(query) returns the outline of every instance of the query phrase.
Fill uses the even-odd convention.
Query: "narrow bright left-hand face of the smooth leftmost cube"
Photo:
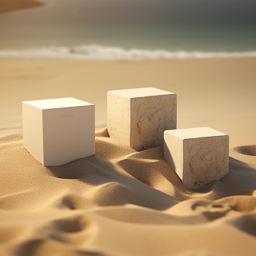
[[[22,102],[23,144],[29,153],[41,164],[43,157],[42,110]]]

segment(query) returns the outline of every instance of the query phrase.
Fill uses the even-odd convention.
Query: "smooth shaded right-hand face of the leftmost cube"
[[[61,166],[95,153],[95,106],[43,110],[44,166]]]

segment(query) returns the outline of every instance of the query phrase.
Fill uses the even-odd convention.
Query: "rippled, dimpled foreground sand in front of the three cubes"
[[[2,139],[1,255],[255,255],[255,146],[231,150],[229,174],[198,192],[161,147],[96,135],[96,155],[59,167],[37,162],[20,135]]]

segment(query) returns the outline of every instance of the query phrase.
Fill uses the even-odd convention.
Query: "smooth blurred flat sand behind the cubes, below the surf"
[[[0,60],[0,126],[21,128],[21,102],[74,97],[106,126],[107,92],[155,87],[177,94],[177,128],[209,126],[230,147],[256,143],[256,58],[170,61]],[[2,130],[3,131],[3,130]]]

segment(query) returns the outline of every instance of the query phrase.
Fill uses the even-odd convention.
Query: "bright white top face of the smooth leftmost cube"
[[[31,105],[39,109],[54,109],[54,108],[72,108],[81,106],[93,106],[94,104],[86,101],[81,101],[72,97],[58,99],[40,99],[36,101],[22,101],[22,103]]]

